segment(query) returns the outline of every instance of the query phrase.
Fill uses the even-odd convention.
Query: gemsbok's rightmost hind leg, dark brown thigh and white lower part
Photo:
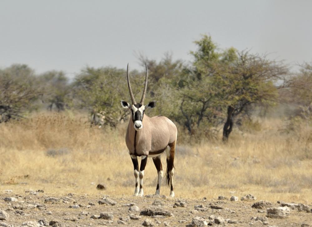
[[[166,179],[167,179],[167,184],[170,186],[170,197],[174,197],[174,192],[173,192],[173,176],[174,176],[174,152],[175,152],[175,145],[176,141],[169,143],[168,146],[170,147],[170,150],[166,150],[167,154],[167,174],[166,174]]]

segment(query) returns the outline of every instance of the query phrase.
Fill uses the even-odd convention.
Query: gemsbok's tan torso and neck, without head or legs
[[[177,139],[177,127],[164,116],[150,118],[144,114],[142,123],[144,127],[136,131],[132,119],[129,120],[126,145],[130,155],[157,156],[164,152],[168,144],[175,142]]]

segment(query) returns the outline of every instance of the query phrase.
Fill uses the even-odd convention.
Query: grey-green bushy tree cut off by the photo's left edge
[[[42,94],[37,77],[27,65],[0,70],[0,122],[21,118],[36,109]]]

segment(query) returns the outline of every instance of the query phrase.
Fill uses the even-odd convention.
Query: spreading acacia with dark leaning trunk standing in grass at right
[[[288,73],[281,62],[271,61],[266,56],[250,54],[248,51],[236,52],[237,58],[226,64],[216,73],[227,90],[227,120],[223,127],[223,140],[228,139],[233,127],[233,118],[252,110],[254,105],[276,103],[278,83]]]

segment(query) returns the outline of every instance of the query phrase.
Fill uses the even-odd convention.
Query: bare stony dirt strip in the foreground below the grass
[[[252,205],[258,200],[230,201],[229,198],[207,200],[155,195],[133,197],[75,193],[60,195],[42,192],[37,195],[30,194],[33,192],[0,193],[0,210],[7,214],[6,220],[0,221],[0,226],[39,226],[40,224],[41,226],[142,226],[143,224],[145,226],[204,226],[206,223],[213,226],[309,226],[312,224],[312,213],[306,210],[299,211],[300,209],[296,207],[290,207],[290,215],[286,218],[266,218],[266,207],[280,206],[277,201],[272,201],[272,204],[262,204],[262,207],[257,209],[252,208]],[[13,197],[17,201],[5,201],[6,197]],[[174,208],[175,203],[178,207]],[[307,207],[310,209],[312,206]],[[144,211],[148,213],[144,215]],[[92,215],[95,216],[92,218]],[[101,218],[97,219],[96,215],[101,215]],[[195,217],[203,219],[195,220],[193,225],[189,225]],[[218,223],[215,218],[220,222]]]

